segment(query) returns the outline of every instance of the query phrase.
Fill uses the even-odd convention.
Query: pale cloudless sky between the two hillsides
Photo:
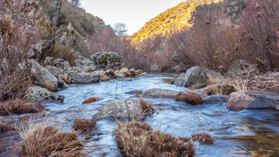
[[[185,0],[82,0],[81,6],[106,25],[127,25],[128,35],[140,30],[150,19]]]

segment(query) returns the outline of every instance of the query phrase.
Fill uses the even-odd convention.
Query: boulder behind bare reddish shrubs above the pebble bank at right
[[[257,70],[255,65],[250,65],[244,60],[236,60],[232,65],[227,69],[228,75],[245,75],[252,73]]]

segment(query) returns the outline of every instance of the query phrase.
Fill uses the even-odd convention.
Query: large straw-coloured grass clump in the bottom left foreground
[[[22,138],[22,152],[24,156],[71,156],[87,157],[82,151],[83,144],[77,134],[79,132],[63,132],[62,128],[40,122],[29,126],[15,126]]]

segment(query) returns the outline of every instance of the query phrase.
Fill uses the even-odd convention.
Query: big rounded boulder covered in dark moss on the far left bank
[[[121,65],[120,55],[116,52],[98,52],[90,57],[99,68],[116,68]]]

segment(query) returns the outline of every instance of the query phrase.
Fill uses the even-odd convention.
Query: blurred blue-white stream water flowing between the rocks
[[[111,80],[92,84],[75,84],[70,88],[57,92],[65,95],[63,104],[46,104],[50,109],[39,115],[39,120],[49,119],[49,122],[63,125],[70,130],[75,116],[89,118],[94,115],[104,103],[117,98],[133,98],[134,95],[124,94],[131,90],[146,91],[151,88],[184,91],[185,87],[167,83],[178,74],[149,74],[133,78],[133,81]],[[117,83],[117,90],[116,90]],[[101,100],[91,104],[82,102],[90,97],[100,97]],[[160,126],[162,131],[176,136],[190,136],[198,131],[208,131],[214,135],[213,145],[197,145],[195,156],[279,156],[279,112],[276,110],[244,110],[233,112],[226,109],[226,104],[189,105],[185,102],[175,102],[173,99],[147,99],[154,105],[163,106],[163,111],[146,118],[153,127]],[[28,119],[30,114],[16,115],[17,119]],[[7,116],[6,118],[11,119]],[[38,120],[36,118],[35,120]],[[34,121],[35,121],[34,120]],[[103,152],[94,149],[90,156],[121,156],[112,135],[116,123],[111,118],[97,122],[91,130],[103,132],[103,135],[83,139],[86,145],[106,144]],[[82,136],[80,137],[82,138]],[[19,156],[21,142],[16,131],[0,133],[0,156]]]

